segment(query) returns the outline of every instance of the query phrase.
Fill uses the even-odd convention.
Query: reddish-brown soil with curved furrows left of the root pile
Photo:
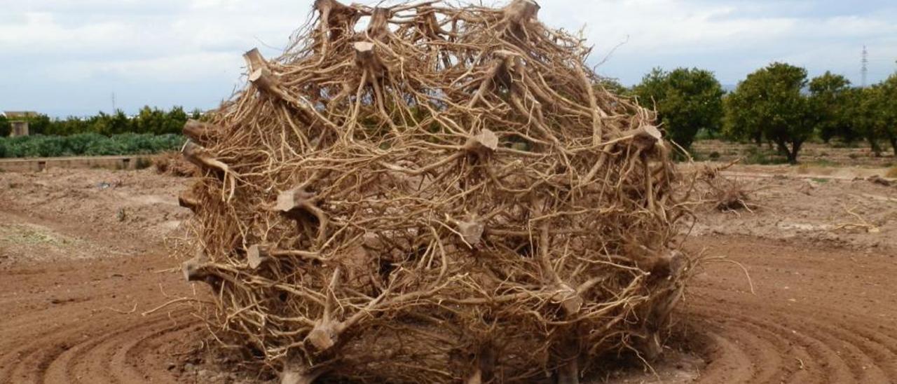
[[[0,383],[185,382],[169,369],[203,335],[192,310],[141,315],[192,295],[179,274],[153,272],[173,264],[149,255],[0,269],[9,309],[0,314]]]

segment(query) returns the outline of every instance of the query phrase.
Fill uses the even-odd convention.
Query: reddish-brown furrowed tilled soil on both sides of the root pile
[[[698,382],[849,383],[897,378],[893,258],[750,238],[697,238],[745,265],[706,266],[679,311],[708,361]],[[187,382],[170,371],[205,329],[187,308],[141,316],[192,294],[161,255],[0,269],[0,383]],[[112,277],[117,276],[117,277]],[[858,277],[859,276],[859,277]],[[163,289],[160,289],[160,286]],[[109,308],[128,311],[120,314]],[[195,378],[193,380],[196,380]]]

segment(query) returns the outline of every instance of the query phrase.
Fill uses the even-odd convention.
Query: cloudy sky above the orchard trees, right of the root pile
[[[723,83],[736,83],[776,60],[805,65],[811,73],[833,69],[855,77],[864,43],[880,55],[897,58],[893,44],[897,23],[892,21],[897,4],[883,2],[847,11],[841,4],[833,9],[832,4],[555,0],[543,4],[541,18],[570,29],[586,25],[588,42],[595,45],[592,60],[596,63],[625,42],[599,68],[624,83],[637,82],[657,65],[707,67],[716,71]],[[890,68],[893,65],[881,73],[889,73]]]

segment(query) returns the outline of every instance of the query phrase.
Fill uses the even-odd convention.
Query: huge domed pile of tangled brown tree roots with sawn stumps
[[[183,151],[185,277],[224,345],[284,382],[576,382],[660,352],[692,270],[667,144],[538,9],[318,0],[283,57],[246,54]]]

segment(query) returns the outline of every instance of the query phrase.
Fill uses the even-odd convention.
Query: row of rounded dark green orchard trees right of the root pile
[[[814,135],[825,142],[866,140],[875,153],[888,141],[897,154],[897,74],[858,88],[839,74],[808,79],[804,68],[773,63],[726,93],[710,71],[655,69],[624,92],[643,105],[653,103],[667,136],[684,148],[704,130],[774,144],[790,162]]]

